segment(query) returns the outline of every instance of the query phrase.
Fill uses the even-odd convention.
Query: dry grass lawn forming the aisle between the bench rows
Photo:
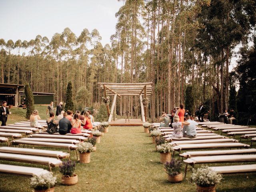
[[[40,114],[46,106],[36,106]],[[13,116],[14,117],[14,116]],[[44,115],[46,118],[46,115]],[[14,120],[14,119],[12,119]],[[16,121],[20,121],[17,119]],[[44,148],[47,149],[47,148]],[[52,148],[48,148],[52,149]],[[60,150],[60,149],[56,149]],[[72,159],[75,160],[72,154]],[[191,167],[187,179],[178,184],[167,181],[164,166],[160,164],[160,155],[156,152],[152,139],[143,132],[143,127],[110,127],[105,133],[96,152],[91,155],[90,164],[76,164],[78,184],[63,186],[58,168],[53,173],[58,177],[56,192],[89,191],[89,192],[194,192],[196,186],[190,183]],[[47,169],[47,166],[0,161],[5,164],[35,166]],[[216,164],[211,164],[212,166]],[[199,167],[197,165],[196,167]],[[184,170],[184,166],[183,166]],[[256,191],[256,174],[225,175],[218,192],[252,192]],[[0,174],[1,192],[32,191],[30,179],[24,176]]]

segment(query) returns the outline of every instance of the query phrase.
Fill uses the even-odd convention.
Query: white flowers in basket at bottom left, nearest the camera
[[[45,172],[40,175],[34,175],[31,178],[30,184],[35,192],[54,192],[54,185],[57,178],[52,172]]]

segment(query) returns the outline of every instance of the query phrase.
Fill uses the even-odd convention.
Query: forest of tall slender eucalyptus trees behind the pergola
[[[76,108],[98,108],[98,82],[152,82],[153,122],[180,103],[194,113],[200,102],[212,120],[234,108],[239,121],[247,121],[245,97],[256,99],[255,0],[126,0],[116,18],[106,45],[97,29],[86,28],[76,36],[67,27],[51,39],[0,37],[0,83],[28,82],[34,92],[55,93],[59,103],[71,81]],[[138,96],[117,102],[117,114],[129,110],[138,116]],[[256,120],[256,107],[250,110]]]

